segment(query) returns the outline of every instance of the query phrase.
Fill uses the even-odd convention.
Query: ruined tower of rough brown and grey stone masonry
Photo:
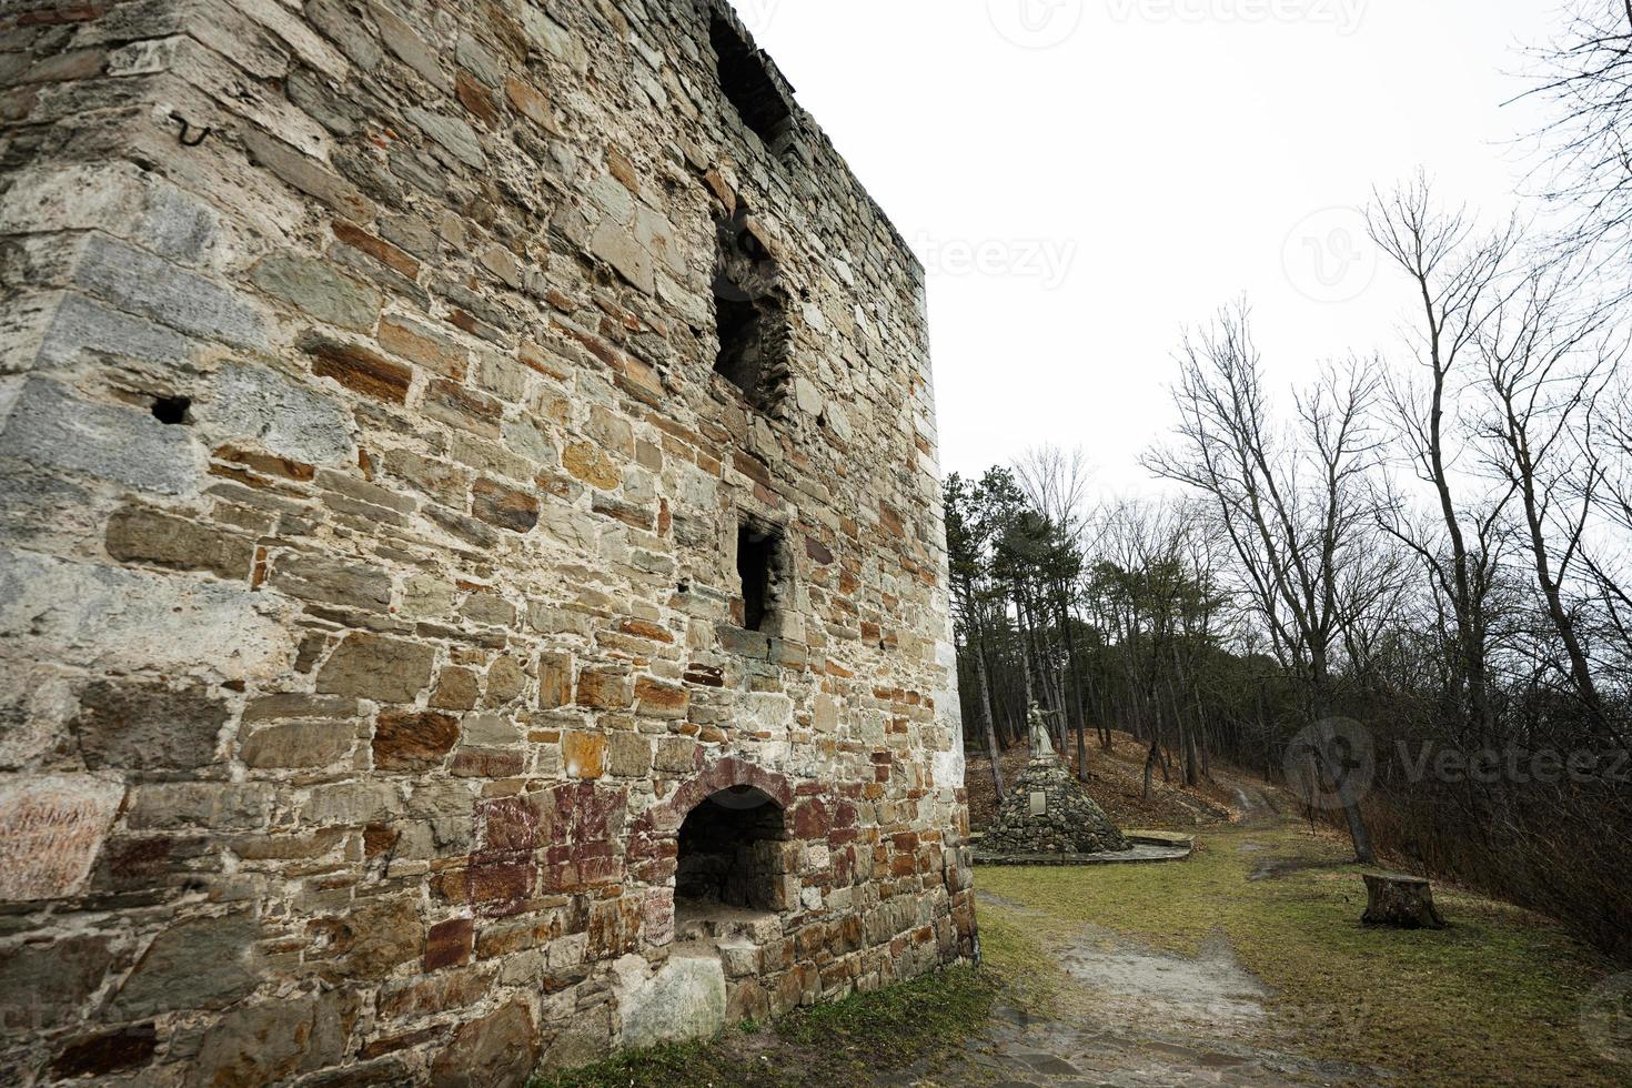
[[[973,954],[922,271],[723,0],[10,0],[0,124],[0,1081]]]

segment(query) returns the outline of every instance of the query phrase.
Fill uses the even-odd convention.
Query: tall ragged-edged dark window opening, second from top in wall
[[[715,374],[747,403],[774,413],[787,388],[792,333],[780,269],[754,235],[747,209],[723,219],[715,264]]]

